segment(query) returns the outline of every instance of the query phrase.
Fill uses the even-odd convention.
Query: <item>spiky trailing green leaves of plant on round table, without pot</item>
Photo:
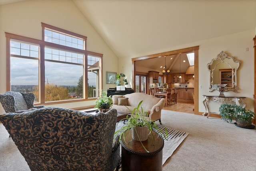
[[[128,133],[128,132],[131,133],[131,131],[128,131],[128,130],[135,128],[135,127],[147,127],[149,130],[148,135],[150,135],[150,133],[153,131],[153,129],[155,129],[158,133],[161,133],[164,136],[164,139],[168,139],[168,133],[167,133],[166,127],[164,127],[165,131],[162,131],[155,123],[158,121],[151,120],[148,117],[148,112],[144,112],[143,108],[142,107],[140,108],[141,103],[142,103],[142,101],[140,101],[140,103],[138,104],[138,107],[134,108],[132,111],[127,106],[125,106],[127,109],[130,110],[130,113],[133,113],[133,114],[127,115],[126,118],[124,118],[124,119],[127,119],[127,123],[125,125],[123,125],[118,131],[116,131],[114,135],[119,136],[119,141],[120,141],[122,136],[124,136],[124,137],[126,136],[126,133]],[[122,119],[122,120],[124,120],[124,119]],[[120,123],[120,122],[118,122],[118,123]],[[136,131],[136,129],[135,129],[135,131]],[[136,134],[138,135],[137,132],[136,132]],[[160,136],[160,135],[158,134],[158,136]],[[153,138],[154,138],[154,136],[153,136]],[[124,139],[124,141],[126,142],[125,139]],[[140,141],[140,143],[142,144],[142,146],[146,150],[146,152],[149,153],[149,151],[144,147],[142,141]]]

